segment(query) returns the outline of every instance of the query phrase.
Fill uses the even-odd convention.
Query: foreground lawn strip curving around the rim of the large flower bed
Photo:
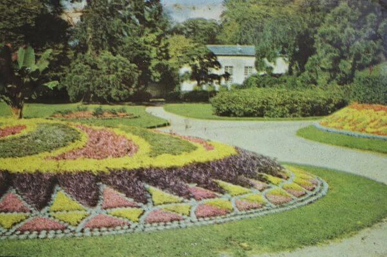
[[[50,240],[0,241],[12,256],[246,256],[348,237],[387,216],[387,186],[345,172],[303,166],[329,184],[327,196],[283,213],[155,233]],[[187,253],[187,254],[185,254]]]

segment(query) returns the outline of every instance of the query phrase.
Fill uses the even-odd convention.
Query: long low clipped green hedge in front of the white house
[[[210,102],[219,116],[270,118],[323,116],[347,104],[339,93],[278,88],[221,92]]]

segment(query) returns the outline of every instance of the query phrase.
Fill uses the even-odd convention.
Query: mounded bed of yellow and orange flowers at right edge
[[[387,135],[387,107],[354,103],[320,122],[330,128]]]

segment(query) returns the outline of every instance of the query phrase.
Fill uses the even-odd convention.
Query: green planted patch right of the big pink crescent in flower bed
[[[151,145],[152,151],[149,154],[150,157],[156,157],[161,154],[178,155],[182,154],[182,152],[191,152],[197,149],[194,144],[191,144],[187,140],[161,133],[154,133],[144,128],[121,126],[120,129],[145,139]]]

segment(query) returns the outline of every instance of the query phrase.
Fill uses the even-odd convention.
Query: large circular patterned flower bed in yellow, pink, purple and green
[[[207,225],[289,210],[327,191],[306,171],[216,142],[134,127],[23,122],[35,130],[0,143],[28,139],[41,150],[0,157],[3,239]],[[49,135],[57,135],[57,147],[44,147]],[[166,142],[173,142],[169,153]]]

